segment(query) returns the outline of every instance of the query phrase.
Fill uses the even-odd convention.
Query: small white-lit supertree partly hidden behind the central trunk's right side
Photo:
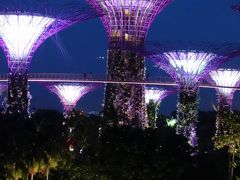
[[[148,127],[156,128],[157,111],[160,107],[162,100],[171,94],[172,91],[156,88],[146,87],[145,88],[145,102],[147,104],[147,117]]]

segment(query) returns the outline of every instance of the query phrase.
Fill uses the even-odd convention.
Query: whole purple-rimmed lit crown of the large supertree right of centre
[[[155,55],[154,62],[168,72],[176,82],[186,86],[196,86],[213,68],[218,56],[197,51],[172,51]]]

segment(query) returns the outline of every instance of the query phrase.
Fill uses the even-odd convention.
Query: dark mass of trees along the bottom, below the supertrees
[[[226,180],[227,149],[214,150],[214,112],[200,112],[198,155],[159,116],[158,128],[102,127],[101,118],[56,111],[0,120],[0,179]],[[66,124],[65,124],[66,123]],[[69,151],[68,126],[74,127]]]

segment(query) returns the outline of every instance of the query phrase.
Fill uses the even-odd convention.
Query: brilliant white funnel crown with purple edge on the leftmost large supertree
[[[7,13],[0,15],[1,46],[10,70],[26,69],[33,53],[51,35],[71,25],[66,19],[41,15]]]

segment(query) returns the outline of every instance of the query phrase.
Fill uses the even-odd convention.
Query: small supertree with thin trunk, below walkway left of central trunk
[[[62,105],[63,105],[63,115],[67,122],[64,122],[64,125],[68,127],[68,147],[70,151],[74,151],[74,140],[72,137],[72,131],[74,130],[74,122],[71,121],[71,118],[75,116],[73,110],[75,109],[77,102],[85,94],[93,91],[97,85],[94,84],[79,84],[79,83],[55,83],[55,84],[46,84],[45,85],[52,93],[56,94]]]

